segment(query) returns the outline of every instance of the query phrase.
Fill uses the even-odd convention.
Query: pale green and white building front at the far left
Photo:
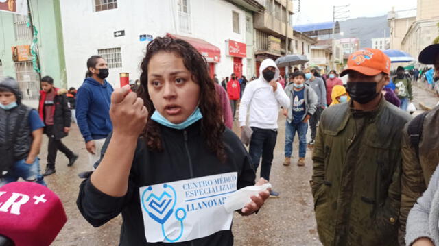
[[[57,87],[67,87],[66,67],[62,38],[62,23],[59,0],[29,0],[33,25],[28,16],[0,12],[0,76],[17,79],[23,101],[29,106],[38,106],[40,77],[49,75]],[[34,69],[31,45],[34,34],[38,41],[40,74]]]

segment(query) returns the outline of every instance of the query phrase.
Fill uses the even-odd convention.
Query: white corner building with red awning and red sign
[[[108,62],[107,80],[113,86],[119,87],[119,73],[139,79],[147,44],[166,34],[190,42],[209,62],[211,75],[216,73],[219,79],[234,72],[247,75],[248,68],[252,73],[246,41],[251,36],[247,31],[251,14],[233,1],[60,2],[70,86],[82,84],[86,60],[95,54]]]

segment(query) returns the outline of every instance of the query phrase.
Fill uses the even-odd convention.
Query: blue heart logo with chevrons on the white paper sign
[[[161,224],[164,224],[174,212],[177,201],[176,191],[172,186],[163,184],[163,188],[164,190],[158,196],[152,192],[151,186],[142,194],[143,209],[154,221]]]

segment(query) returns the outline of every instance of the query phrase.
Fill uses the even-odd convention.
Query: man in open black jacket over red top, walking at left
[[[69,158],[69,164],[73,165],[78,155],[73,153],[62,142],[61,138],[67,136],[70,130],[71,112],[65,93],[67,90],[54,87],[54,79],[45,76],[41,79],[40,106],[38,112],[45,122],[45,134],[49,137],[47,167],[43,175],[55,173],[56,152],[60,150]]]

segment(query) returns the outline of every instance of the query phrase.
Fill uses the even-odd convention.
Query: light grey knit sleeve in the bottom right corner
[[[427,190],[419,197],[407,217],[406,245],[418,238],[430,238],[439,245],[439,169],[436,168]]]

